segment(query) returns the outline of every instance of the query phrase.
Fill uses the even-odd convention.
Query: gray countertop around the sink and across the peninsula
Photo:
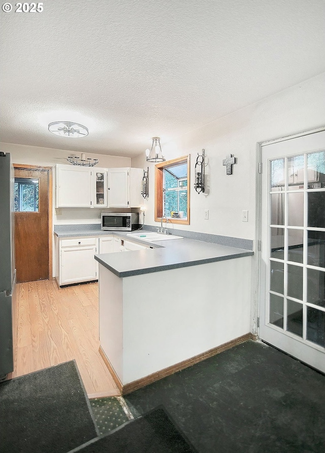
[[[143,230],[145,232],[146,230]],[[135,231],[135,233],[139,230]],[[252,256],[252,250],[229,247],[196,239],[171,239],[168,241],[148,242],[127,236],[129,232],[102,231],[100,225],[56,225],[54,234],[58,238],[81,236],[114,235],[124,240],[133,240],[152,248],[132,250],[125,253],[102,253],[95,260],[118,277],[150,274],[168,269],[177,269],[216,261],[232,260]]]

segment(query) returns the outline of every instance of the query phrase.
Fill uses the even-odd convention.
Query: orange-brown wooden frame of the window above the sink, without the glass
[[[172,160],[165,160],[155,165],[155,185],[154,185],[154,220],[161,221],[164,209],[164,170],[176,165],[187,164],[187,217],[186,218],[171,218],[168,217],[168,223],[180,223],[189,225],[190,222],[190,155],[177,157]]]

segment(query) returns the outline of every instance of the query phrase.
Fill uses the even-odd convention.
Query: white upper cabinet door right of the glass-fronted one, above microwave
[[[129,168],[108,169],[108,206],[129,207]]]

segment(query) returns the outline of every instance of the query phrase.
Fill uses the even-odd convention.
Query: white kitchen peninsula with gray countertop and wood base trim
[[[100,352],[122,394],[253,337],[251,250],[125,239],[152,248],[95,255]]]

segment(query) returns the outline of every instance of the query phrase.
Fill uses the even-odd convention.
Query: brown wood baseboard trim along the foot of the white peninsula
[[[112,374],[112,377],[118,386],[118,389],[120,390],[122,395],[127,395],[128,393],[135,392],[136,390],[141,389],[142,387],[145,387],[148,384],[152,384],[153,382],[162,379],[163,377],[170,376],[171,374],[176,373],[177,371],[184,370],[185,368],[188,368],[192,365],[195,365],[199,362],[202,362],[203,360],[209,359],[210,357],[213,357],[216,354],[219,354],[220,352],[223,352],[227,349],[231,349],[234,346],[237,346],[238,344],[244,343],[247,340],[257,340],[257,335],[254,335],[252,333],[248,333],[245,335],[242,335],[241,337],[235,338],[232,341],[229,341],[228,343],[221,344],[220,346],[217,346],[215,348],[209,349],[206,352],[203,352],[202,354],[195,355],[191,359],[184,360],[182,362],[179,362],[175,365],[172,365],[171,367],[164,368],[163,370],[157,371],[156,373],[149,374],[149,376],[145,376],[141,379],[138,379],[136,381],[130,382],[129,384],[122,385],[122,382],[120,381],[119,377],[114,371],[114,368],[112,367],[109,359],[107,358],[107,355],[103,351],[102,347],[100,346],[100,354],[109,369],[110,373]]]

